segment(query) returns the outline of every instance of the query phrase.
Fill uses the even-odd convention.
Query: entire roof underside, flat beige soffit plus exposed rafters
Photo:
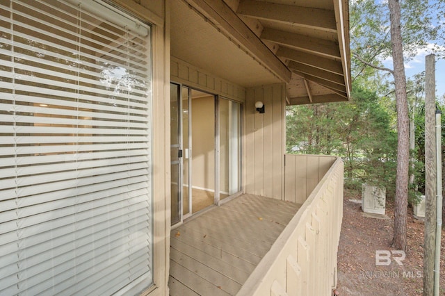
[[[175,0],[171,54],[245,88],[286,83],[288,104],[348,101],[347,0]]]

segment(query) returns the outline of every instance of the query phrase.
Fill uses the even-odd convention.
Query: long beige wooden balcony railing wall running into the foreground
[[[237,295],[332,295],[342,215],[336,158]]]

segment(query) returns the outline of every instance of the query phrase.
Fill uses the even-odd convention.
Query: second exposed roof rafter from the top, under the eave
[[[341,60],[338,44],[329,40],[280,31],[274,28],[264,28],[260,38],[275,42],[284,47],[291,47],[318,56]]]

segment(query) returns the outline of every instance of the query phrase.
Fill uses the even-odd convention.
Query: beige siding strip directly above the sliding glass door
[[[172,82],[183,83],[191,88],[219,94],[241,103],[245,102],[246,90],[240,85],[213,76],[205,69],[195,67],[179,58],[172,56],[171,60],[170,79]]]

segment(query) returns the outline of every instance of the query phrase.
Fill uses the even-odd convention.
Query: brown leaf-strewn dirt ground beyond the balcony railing
[[[412,208],[408,210],[406,257],[398,265],[394,253],[390,265],[375,264],[376,250],[396,251],[391,244],[394,206],[387,202],[386,219],[364,215],[359,192],[345,190],[343,224],[338,254],[338,295],[422,295],[423,230]],[[445,295],[445,231],[442,231],[440,293]],[[379,251],[380,253],[380,251]],[[382,254],[382,253],[380,253]],[[382,256],[385,256],[382,254]],[[389,262],[387,259],[380,263]]]

